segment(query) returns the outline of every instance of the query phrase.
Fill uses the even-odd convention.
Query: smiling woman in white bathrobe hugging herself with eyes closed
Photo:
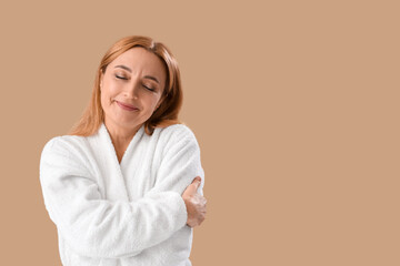
[[[181,103],[162,43],[128,37],[106,53],[82,119],[40,161],[63,265],[191,265],[204,173],[194,134],[178,121]]]

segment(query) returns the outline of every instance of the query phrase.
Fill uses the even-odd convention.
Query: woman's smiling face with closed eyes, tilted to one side
[[[143,48],[114,59],[100,78],[106,125],[138,130],[159,106],[166,79],[161,59]]]

